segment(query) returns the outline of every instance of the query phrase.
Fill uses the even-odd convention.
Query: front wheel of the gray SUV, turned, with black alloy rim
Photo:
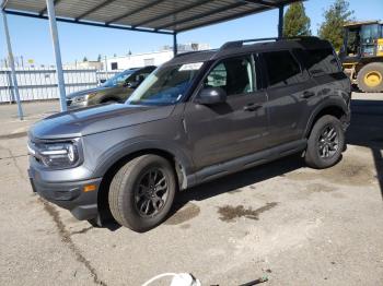
[[[147,184],[148,188],[143,188]],[[164,186],[166,195],[162,193]],[[113,178],[108,196],[111,212],[120,225],[143,233],[166,218],[175,192],[176,179],[172,165],[163,157],[143,155],[128,162]],[[150,214],[148,208],[154,213]]]

